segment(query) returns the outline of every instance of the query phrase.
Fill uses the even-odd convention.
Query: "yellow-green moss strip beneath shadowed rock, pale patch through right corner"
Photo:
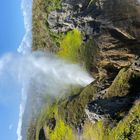
[[[85,140],[139,140],[140,101],[137,101],[128,115],[112,129],[102,121],[95,124],[87,121],[82,136]]]

